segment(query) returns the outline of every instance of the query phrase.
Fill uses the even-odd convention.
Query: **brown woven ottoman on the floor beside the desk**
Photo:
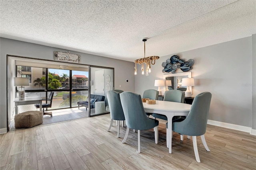
[[[42,111],[26,111],[14,116],[15,128],[29,128],[43,123]]]

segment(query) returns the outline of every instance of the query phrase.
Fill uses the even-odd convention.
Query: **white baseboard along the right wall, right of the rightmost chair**
[[[207,124],[220,126],[220,127],[225,127],[225,128],[228,128],[228,129],[234,129],[234,130],[237,130],[237,131],[248,132],[251,135],[253,135],[252,130],[254,130],[251,127],[247,127],[247,126],[235,125],[235,124],[231,124],[231,123],[225,123],[225,122],[214,121],[214,120],[209,120],[209,119],[207,121]],[[254,134],[256,135],[256,130],[254,130]]]

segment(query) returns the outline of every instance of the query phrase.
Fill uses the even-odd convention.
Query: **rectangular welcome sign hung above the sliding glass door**
[[[70,54],[69,52],[62,53],[59,51],[54,51],[54,60],[64,61],[67,63],[80,63],[80,55]]]

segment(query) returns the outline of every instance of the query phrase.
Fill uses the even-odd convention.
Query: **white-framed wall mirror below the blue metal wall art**
[[[182,78],[192,78],[191,72],[182,72],[176,74],[164,74],[164,93],[168,90],[176,90],[177,88],[187,88],[186,86],[181,86]],[[185,89],[184,89],[185,90]],[[192,86],[190,86],[192,92]],[[186,90],[185,90],[186,91]]]

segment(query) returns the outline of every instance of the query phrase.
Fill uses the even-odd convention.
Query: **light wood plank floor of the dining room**
[[[153,129],[141,133],[141,153],[137,153],[137,133],[116,123],[110,132],[110,114],[53,125],[20,129],[0,135],[0,170],[110,170],[110,169],[256,169],[256,136],[207,126],[204,149],[198,137],[201,163],[196,162],[192,138],[180,141],[174,133],[172,154],[166,148],[165,121],[160,121],[159,143],[154,143]]]

